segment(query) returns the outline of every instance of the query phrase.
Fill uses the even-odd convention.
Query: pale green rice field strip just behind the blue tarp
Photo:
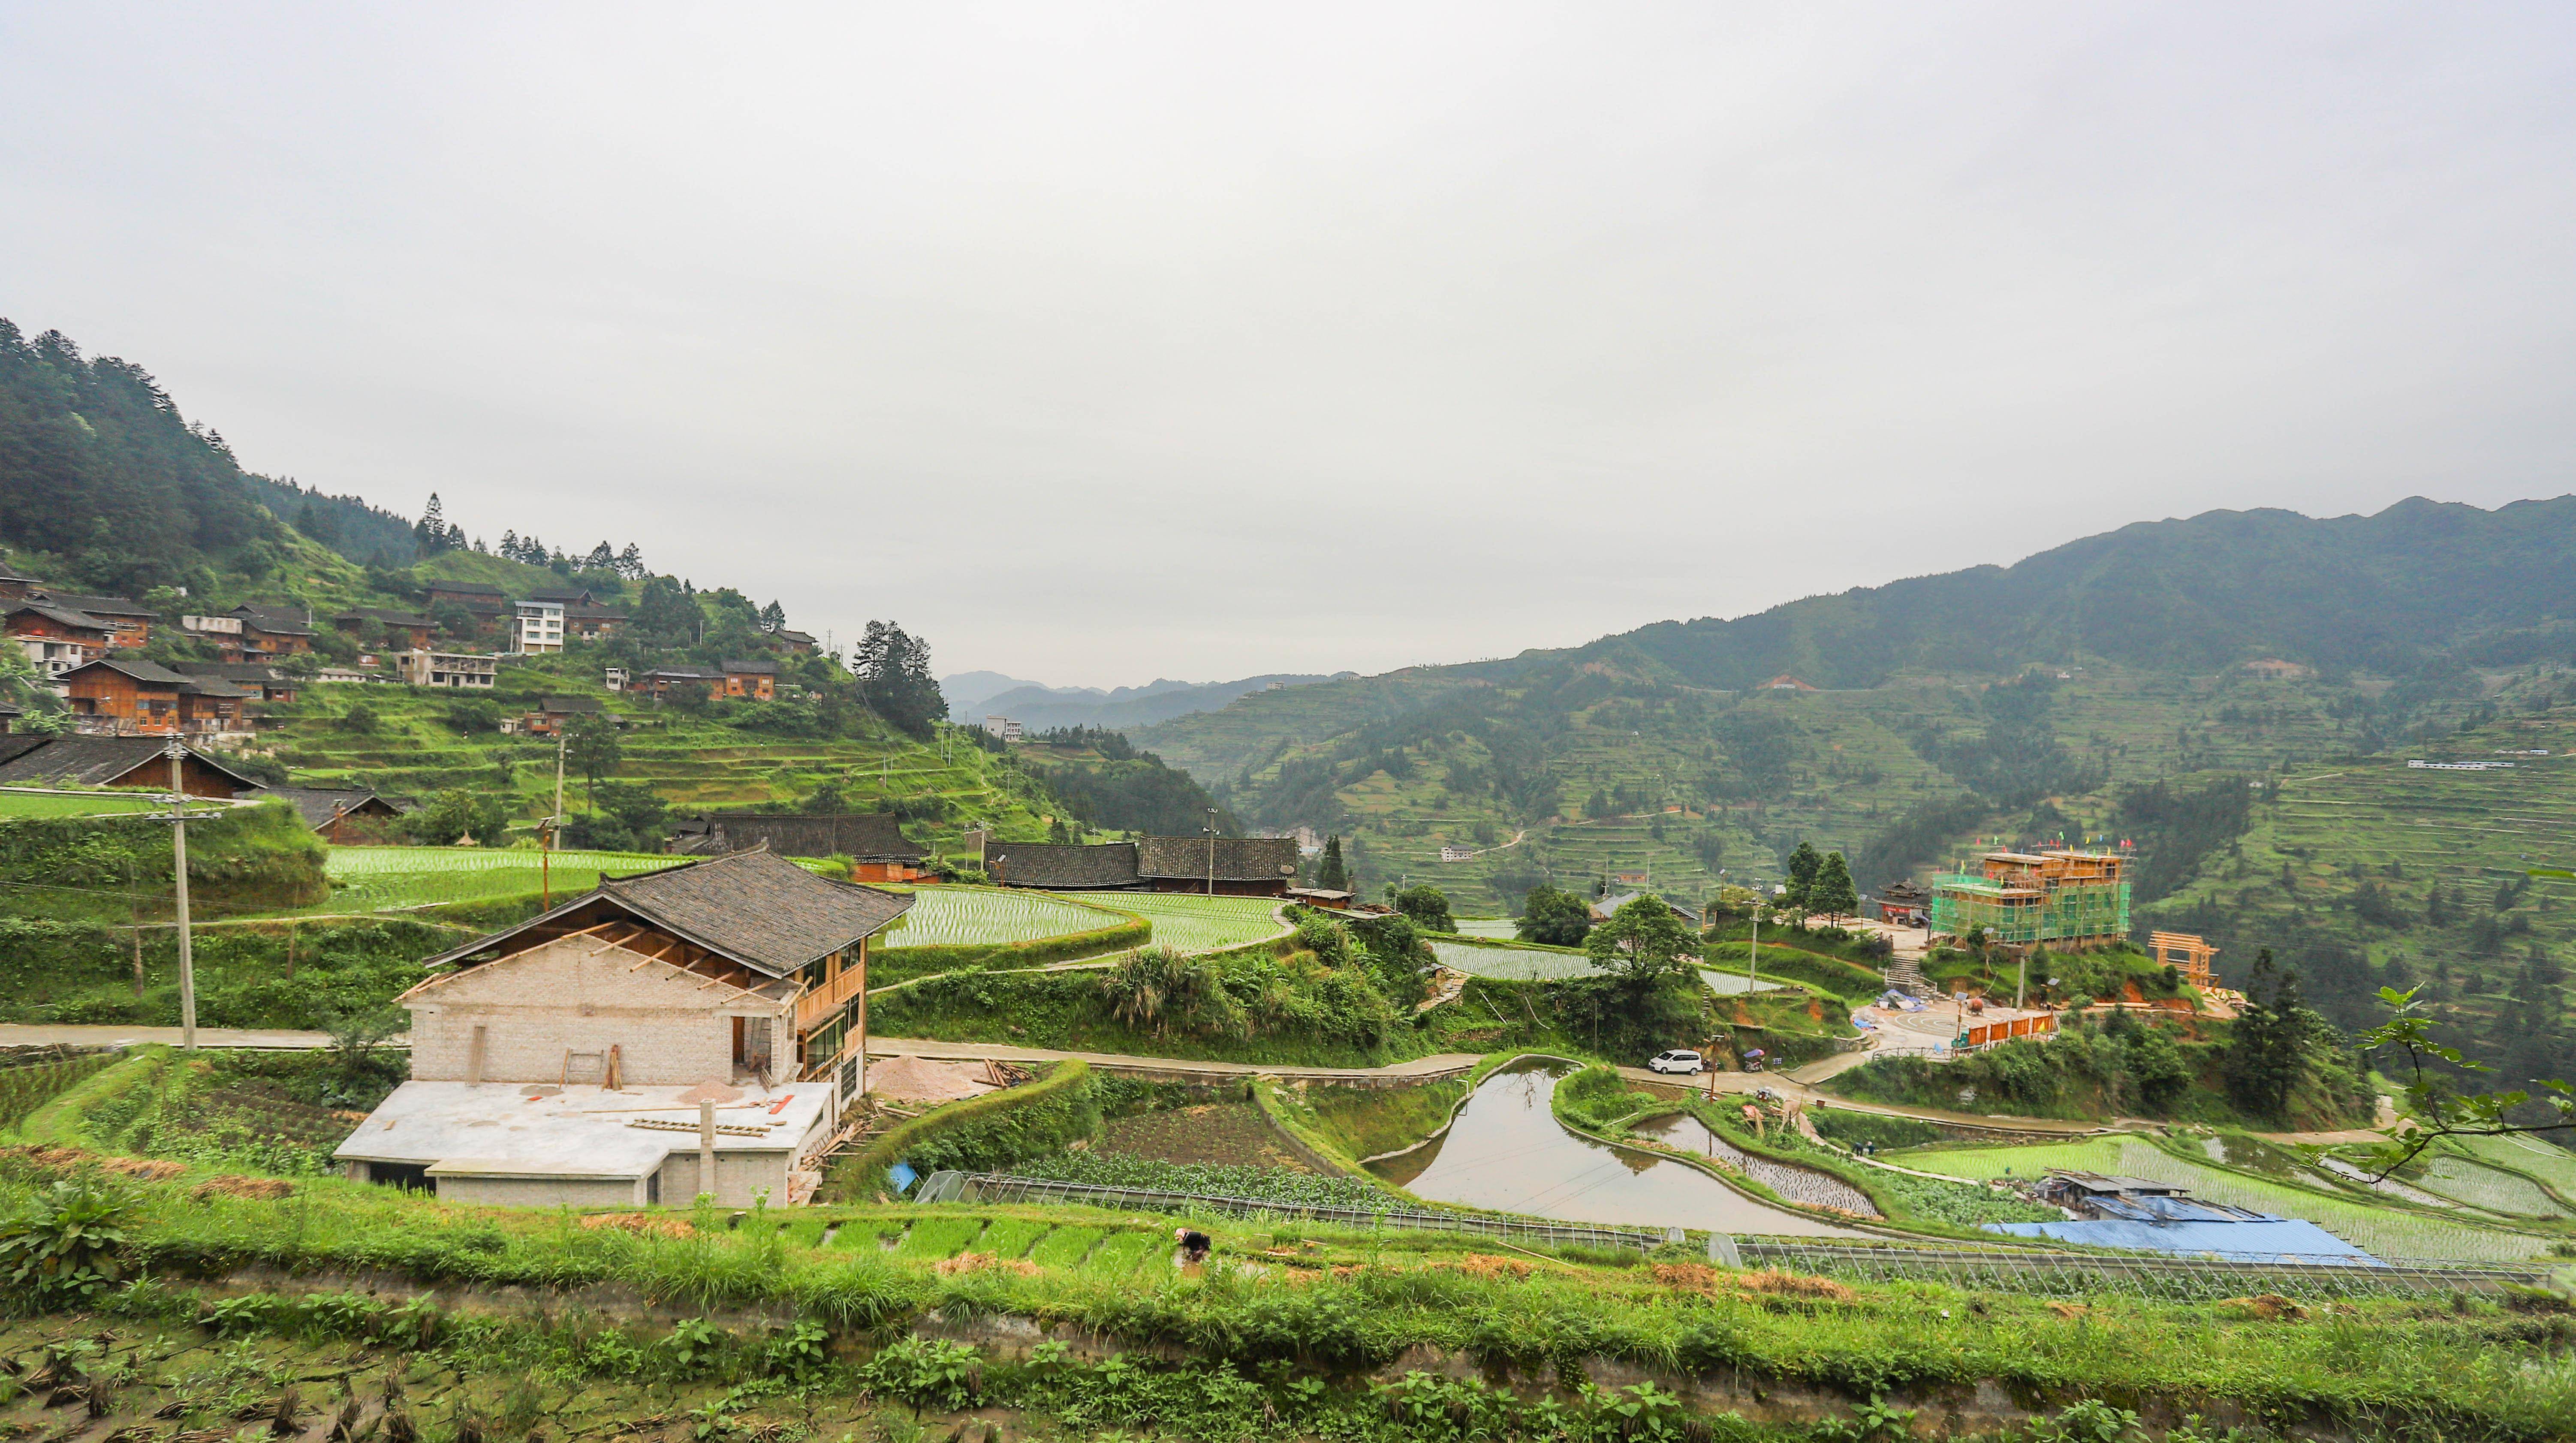
[[[2375,1209],[2357,1198],[2342,1198],[2321,1188],[2264,1183],[2241,1172],[2200,1167],[2138,1139],[2097,1136],[2040,1147],[1927,1147],[1891,1152],[1886,1160],[1901,1167],[1942,1172],[1947,1178],[1971,1178],[1978,1183],[1989,1178],[2038,1178],[2053,1167],[2179,1183],[2190,1188],[2192,1196],[2213,1203],[2233,1203],[2239,1209],[2308,1219],[2344,1242],[2385,1260],[2519,1263],[2548,1252],[2550,1245],[2545,1237],[2524,1237],[2501,1229],[2470,1227],[2465,1221],[2429,1219],[2398,1209]]]

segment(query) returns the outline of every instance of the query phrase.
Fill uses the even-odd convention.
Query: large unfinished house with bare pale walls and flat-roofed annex
[[[866,1090],[868,941],[909,904],[750,850],[433,956],[412,1080],[337,1160],[469,1203],[806,1201]]]

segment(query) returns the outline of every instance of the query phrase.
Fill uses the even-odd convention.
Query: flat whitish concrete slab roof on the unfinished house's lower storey
[[[698,1103],[680,1100],[688,1090],[404,1082],[332,1157],[484,1178],[641,1178],[672,1152],[698,1152]],[[829,1100],[827,1080],[742,1087],[739,1100],[716,1103],[716,1152],[791,1152],[824,1121]],[[688,1126],[626,1126],[631,1121]],[[760,1136],[721,1129],[760,1129]]]

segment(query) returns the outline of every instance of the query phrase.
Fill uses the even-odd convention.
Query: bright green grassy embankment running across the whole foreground
[[[59,1165],[13,1160],[0,1180],[0,1211],[26,1206],[31,1185],[54,1175]],[[188,1170],[126,1183],[134,1198],[126,1252],[155,1283],[111,1291],[103,1299],[108,1319],[134,1332],[204,1324],[268,1340],[268,1348],[276,1340],[330,1343],[358,1368],[384,1368],[397,1353],[399,1366],[428,1361],[438,1386],[425,1389],[422,1402],[435,1399],[446,1415],[438,1422],[497,1407],[507,1386],[482,1381],[489,1373],[567,1397],[621,1376],[677,1384],[670,1391],[708,1379],[775,1376],[773,1366],[788,1353],[778,1337],[793,1335],[796,1319],[817,1330],[804,1376],[829,1386],[793,1386],[788,1371],[791,1386],[770,1389],[768,1399],[755,1389],[708,1412],[848,1410],[848,1394],[863,1384],[855,1376],[863,1340],[896,1340],[896,1361],[917,1355],[925,1345],[899,1343],[904,1335],[958,1332],[956,1322],[935,1322],[938,1312],[948,1319],[1028,1317],[1090,1330],[1105,1350],[1131,1348],[1123,1386],[1141,1415],[1077,1417],[1218,1428],[1193,1435],[1422,1438],[1419,1425],[1386,1430],[1399,1420],[1388,1420],[1368,1389],[1370,1373],[1401,1371],[1409,1348],[1507,1368],[1535,1386],[1579,1376],[1589,1361],[1625,1363],[1649,1368],[1664,1389],[1695,1379],[1713,1389],[1713,1402],[1739,1407],[1759,1407],[1754,1391],[1814,1389],[1826,1412],[1870,1397],[1937,1412],[1942,1399],[1965,1399],[1978,1381],[1996,1381],[2007,1397],[2043,1412],[2079,1397],[2112,1397],[2172,1415],[2257,1415],[2396,1438],[2550,1438],[2576,1425],[2563,1322],[2483,1301],[2465,1309],[2439,1299],[2360,1304],[2349,1317],[2282,1324],[2223,1306],[2099,1299],[2069,1317],[2038,1299],[1942,1286],[1793,1288],[1695,1265],[1543,1265],[1497,1260],[1489,1245],[1463,1239],[1383,1239],[1231,1219],[1193,1219],[1216,1237],[1226,1263],[1200,1278],[1164,1260],[1172,1219],[1090,1209],[817,1209],[760,1214],[737,1229],[726,1229],[721,1214],[696,1227],[675,1214],[665,1237],[569,1227],[556,1214],[440,1206],[337,1180],[296,1183],[286,1203],[245,1201],[204,1180]],[[291,1227],[278,1227],[281,1219]],[[827,1229],[829,1245],[822,1242]],[[969,1255],[981,1257],[958,1263]],[[263,1270],[245,1273],[252,1268]],[[312,1283],[286,1283],[286,1296],[270,1304],[219,1306],[216,1296],[193,1294],[242,1276],[258,1299],[258,1288],[281,1286],[278,1273],[350,1270],[371,1273],[389,1294],[330,1306],[294,1301]],[[528,1286],[538,1288],[536,1304],[551,1288],[605,1283],[611,1291],[595,1296],[580,1322],[544,1322],[533,1309],[477,1317],[440,1304],[389,1317],[402,1306],[404,1281]],[[621,1291],[708,1319],[670,1330],[647,1322],[641,1309],[618,1306]],[[762,1317],[778,1322],[762,1327]],[[100,1319],[80,1327],[95,1332]],[[13,1335],[26,1337],[33,1335]],[[1149,1361],[1157,1348],[1185,1363]],[[762,1355],[773,1366],[762,1366]],[[193,1366],[219,1366],[219,1358]],[[1103,1379],[1100,1366],[1074,1358],[1054,1368],[1079,1402],[1115,1402],[1095,1391],[1115,1373]],[[1226,1389],[1231,1415],[1211,1417],[1206,1391],[1185,1384],[1211,1368],[1234,1379]],[[997,1399],[1043,1399],[1023,1394],[1036,1379],[1007,1363],[984,1363],[981,1373]],[[469,1376],[477,1384],[466,1384]],[[1190,1391],[1154,1397],[1175,1386]],[[211,1407],[216,1394],[222,1389],[201,1391],[196,1407]],[[835,1394],[842,1402],[827,1402]],[[693,1397],[706,1397],[701,1407],[716,1402]],[[974,1394],[956,1402],[969,1399]],[[1517,1412],[1533,1407],[1528,1402],[1486,1402],[1512,1407],[1515,1428],[1538,1422]],[[1589,1402],[1569,1389],[1558,1407],[1589,1410]],[[652,1410],[667,1417],[670,1402]],[[1718,1425],[1759,1435],[1723,1417]]]

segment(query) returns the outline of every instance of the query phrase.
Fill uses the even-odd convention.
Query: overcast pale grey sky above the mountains
[[[1048,683],[2571,490],[2566,5],[0,3],[0,314]]]

